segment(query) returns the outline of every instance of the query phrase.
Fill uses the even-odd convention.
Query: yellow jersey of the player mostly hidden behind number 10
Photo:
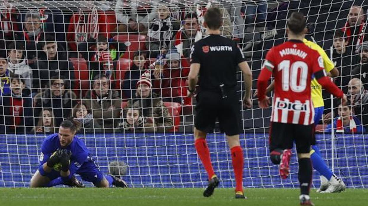
[[[326,72],[330,72],[335,67],[335,65],[327,56],[325,50],[321,48],[321,46],[314,42],[308,41],[307,39],[303,39],[303,42],[305,43],[305,45],[309,46],[309,48],[316,50],[319,55],[321,55]],[[313,78],[311,82],[311,97],[314,108],[325,106],[322,98],[322,86],[318,83],[316,78]]]

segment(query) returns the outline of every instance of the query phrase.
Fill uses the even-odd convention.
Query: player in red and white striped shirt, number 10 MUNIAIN
[[[313,205],[309,199],[312,177],[309,150],[314,138],[312,76],[316,77],[323,88],[342,98],[343,104],[346,96],[326,76],[319,53],[302,42],[306,32],[304,15],[296,12],[291,14],[286,31],[288,41],[275,46],[266,55],[258,77],[258,103],[259,107],[268,108],[269,99],[265,92],[268,80],[273,75],[275,95],[271,115],[270,158],[274,164],[280,164],[281,177],[287,178],[291,148],[295,141],[299,162],[300,204]]]

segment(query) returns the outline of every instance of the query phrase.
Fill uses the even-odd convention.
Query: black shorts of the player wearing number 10
[[[297,146],[297,153],[309,153],[314,140],[314,124],[296,125],[271,122],[269,144],[270,151],[279,149],[291,149],[293,142]]]

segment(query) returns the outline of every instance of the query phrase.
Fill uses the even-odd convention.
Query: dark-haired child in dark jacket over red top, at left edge
[[[3,97],[6,133],[26,133],[33,128],[32,99],[20,75],[10,77],[11,94]],[[2,110],[2,109],[1,109]]]

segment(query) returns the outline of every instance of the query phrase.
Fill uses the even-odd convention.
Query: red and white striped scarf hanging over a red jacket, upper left
[[[75,27],[76,42],[86,42],[89,38],[97,39],[99,26],[96,8],[93,8],[88,14],[79,11],[78,20],[75,23],[77,24]]]

